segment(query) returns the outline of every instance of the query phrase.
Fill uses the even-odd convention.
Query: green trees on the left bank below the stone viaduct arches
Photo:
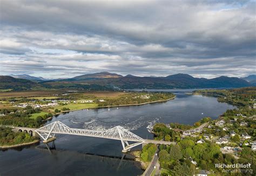
[[[22,143],[29,143],[34,138],[25,132],[15,133],[9,127],[0,127],[0,145],[15,145]]]

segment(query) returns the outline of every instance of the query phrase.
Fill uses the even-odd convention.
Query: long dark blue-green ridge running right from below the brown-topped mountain
[[[111,73],[112,74],[112,73]],[[213,79],[194,78],[186,74],[170,75],[167,77],[135,77],[125,76],[118,78],[90,78],[70,80],[76,84],[91,84],[121,89],[195,89],[195,88],[232,88],[246,87],[252,84],[243,79],[231,77],[218,77]]]

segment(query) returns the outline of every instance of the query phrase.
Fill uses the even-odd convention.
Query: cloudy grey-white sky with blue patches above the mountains
[[[253,75],[255,8],[246,0],[0,0],[0,75]]]

